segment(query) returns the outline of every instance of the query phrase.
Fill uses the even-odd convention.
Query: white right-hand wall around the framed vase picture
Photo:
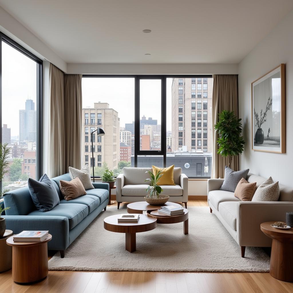
[[[246,142],[240,156],[241,169],[274,181],[293,186],[293,11],[265,37],[239,64],[239,117],[243,120]],[[251,82],[277,67],[286,64],[286,154],[274,154],[251,149]]]

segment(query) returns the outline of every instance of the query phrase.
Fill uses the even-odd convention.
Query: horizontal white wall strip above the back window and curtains
[[[69,63],[69,74],[237,74],[238,64]]]

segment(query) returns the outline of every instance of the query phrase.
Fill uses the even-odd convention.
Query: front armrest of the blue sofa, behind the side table
[[[69,222],[62,216],[4,216],[6,229],[18,234],[24,230],[48,230],[52,240],[48,249],[65,250],[69,246]]]

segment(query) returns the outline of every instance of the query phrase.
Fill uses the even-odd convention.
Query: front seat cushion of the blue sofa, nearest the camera
[[[88,215],[88,206],[79,203],[59,204],[48,212],[33,211],[29,216],[63,216],[68,218],[69,230]]]

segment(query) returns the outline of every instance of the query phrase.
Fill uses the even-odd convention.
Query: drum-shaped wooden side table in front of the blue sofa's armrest
[[[41,242],[14,242],[13,237],[6,240],[12,246],[12,279],[16,283],[38,282],[48,275],[48,246],[52,235]]]

